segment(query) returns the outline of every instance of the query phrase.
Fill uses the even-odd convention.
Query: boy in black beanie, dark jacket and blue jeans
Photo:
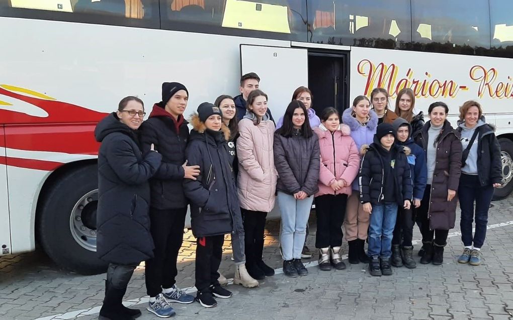
[[[371,275],[391,275],[392,233],[399,205],[409,209],[412,197],[410,166],[406,146],[394,144],[395,132],[389,123],[378,125],[374,142],[362,146],[360,202],[370,214],[369,245]],[[380,263],[381,258],[381,263]]]

